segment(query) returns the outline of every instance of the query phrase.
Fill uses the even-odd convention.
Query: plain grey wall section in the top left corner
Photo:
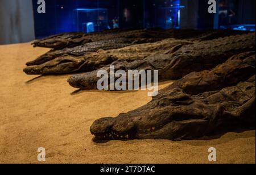
[[[32,1],[0,0],[0,4],[0,44],[34,40]]]

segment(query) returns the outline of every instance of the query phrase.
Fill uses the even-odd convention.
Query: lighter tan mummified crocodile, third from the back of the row
[[[192,43],[192,41],[166,39],[156,43],[135,44],[108,51],[100,50],[80,57],[62,55],[40,65],[27,66],[24,72],[27,74],[64,74],[76,71],[89,72],[102,68],[115,60],[142,60],[147,56],[168,51],[176,45]]]

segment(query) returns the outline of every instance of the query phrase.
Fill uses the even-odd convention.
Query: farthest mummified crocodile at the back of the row
[[[50,36],[42,40],[34,41],[34,47],[47,47],[54,49],[62,49],[65,47],[76,47],[77,45],[91,43],[101,40],[112,40],[117,38],[126,39],[163,39],[170,38],[171,34],[159,29],[150,30],[109,30],[96,32],[92,34],[84,34],[81,32],[70,32],[60,35]]]

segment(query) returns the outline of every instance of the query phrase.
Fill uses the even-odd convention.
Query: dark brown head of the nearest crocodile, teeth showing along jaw
[[[169,93],[116,118],[98,119],[90,132],[97,140],[175,140],[207,132],[209,121],[204,119],[206,114],[199,109],[200,104],[181,89],[172,89]],[[208,112],[212,113],[210,109]],[[189,132],[191,130],[193,132]]]

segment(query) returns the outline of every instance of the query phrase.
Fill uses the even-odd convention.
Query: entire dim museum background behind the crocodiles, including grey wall
[[[46,14],[39,14],[37,0],[0,0],[0,44],[23,43],[61,32],[86,32],[88,22],[94,23],[94,31],[102,31],[113,28],[113,19],[120,28],[255,30],[255,0],[216,0],[225,5],[221,8],[228,15],[234,13],[224,18],[209,14],[208,0],[45,1]],[[93,12],[78,13],[76,9]]]

